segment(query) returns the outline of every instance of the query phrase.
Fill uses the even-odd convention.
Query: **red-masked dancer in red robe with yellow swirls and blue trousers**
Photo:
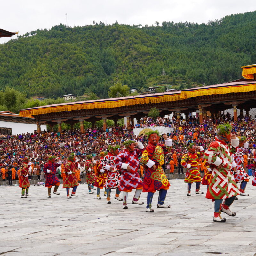
[[[160,137],[157,130],[150,131],[146,135],[149,142],[140,159],[141,163],[146,165],[143,178],[143,192],[148,192],[146,212],[154,212],[154,209],[151,208],[151,203],[156,190],[159,190],[157,208],[171,207],[169,204],[164,204],[170,183],[162,169],[162,165],[164,164],[164,155],[171,152],[172,139],[167,139],[167,135],[164,134],[165,146],[158,144]]]

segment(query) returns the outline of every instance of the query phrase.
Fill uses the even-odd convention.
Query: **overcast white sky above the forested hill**
[[[246,2],[246,4],[244,4]],[[84,26],[107,24],[160,24],[163,21],[207,23],[226,15],[256,10],[255,0],[9,0],[2,1],[0,28],[19,35],[60,23]],[[16,36],[12,36],[16,38]],[[0,38],[4,43],[10,38]]]

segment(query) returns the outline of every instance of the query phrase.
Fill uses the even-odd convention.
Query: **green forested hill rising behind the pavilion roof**
[[[14,87],[27,97],[90,90],[105,98],[116,82],[182,89],[231,81],[241,77],[242,65],[256,63],[255,21],[256,12],[247,12],[200,25],[38,29],[0,45],[0,89]]]

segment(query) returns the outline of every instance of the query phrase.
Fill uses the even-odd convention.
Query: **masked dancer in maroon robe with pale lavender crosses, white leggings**
[[[116,156],[116,167],[121,170],[119,190],[123,191],[123,208],[128,209],[127,198],[132,189],[136,189],[132,204],[144,204],[139,201],[143,183],[138,173],[140,167],[139,157],[142,155],[144,146],[141,142],[132,140],[123,142],[123,145],[125,146],[124,151]],[[137,146],[138,148],[135,148]]]

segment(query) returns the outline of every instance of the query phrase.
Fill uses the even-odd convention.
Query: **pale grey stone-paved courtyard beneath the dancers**
[[[226,223],[213,222],[213,203],[204,195],[186,196],[183,180],[170,180],[166,203],[157,209],[158,192],[153,198],[155,212],[145,205],[131,204],[122,209],[114,199],[96,200],[87,185],[79,185],[79,197],[60,195],[47,198],[45,187],[30,187],[31,197],[20,198],[19,187],[0,186],[0,255],[256,255],[256,188],[249,182],[249,197],[239,196],[231,209],[236,217]],[[142,193],[146,203],[146,193]]]

